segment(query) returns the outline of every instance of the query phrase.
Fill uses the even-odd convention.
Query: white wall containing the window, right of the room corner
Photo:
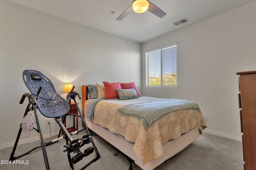
[[[256,70],[256,2],[142,44],[142,94],[193,101],[208,131],[241,138],[236,72]],[[145,54],[177,42],[177,88],[146,87]]]

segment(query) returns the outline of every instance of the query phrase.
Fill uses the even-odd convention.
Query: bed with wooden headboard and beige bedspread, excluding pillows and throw
[[[88,128],[143,170],[153,170],[180,152],[200,137],[206,128],[200,109],[174,110],[145,126],[136,117],[121,114],[120,109],[167,99],[141,96],[129,100],[111,98],[96,101],[88,99],[88,92],[88,86],[82,85],[82,114]],[[95,101],[93,117],[90,117],[86,113]]]

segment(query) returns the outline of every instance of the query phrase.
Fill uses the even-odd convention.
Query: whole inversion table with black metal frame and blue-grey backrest
[[[67,101],[64,98],[62,98],[59,94],[57,94],[52,82],[46,76],[44,76],[44,74],[42,74],[41,72],[36,71],[36,70],[24,70],[22,76],[23,76],[23,80],[24,80],[26,86],[28,87],[28,89],[30,90],[31,94],[25,93],[20,100],[20,104],[23,104],[25,98],[28,97],[29,103],[28,103],[28,106],[26,107],[24,117],[28,114],[29,111],[34,111],[34,115],[36,118],[36,125],[37,125],[38,129],[35,129],[34,127],[33,127],[33,129],[35,129],[39,133],[41,146],[35,147],[34,149],[31,149],[28,152],[21,154],[19,156],[14,156],[14,153],[15,153],[15,150],[18,145],[18,141],[20,139],[20,135],[22,132],[22,128],[20,127],[18,136],[17,136],[15,144],[14,144],[14,148],[13,148],[11,156],[10,156],[10,160],[11,161],[16,160],[16,159],[32,152],[33,150],[41,147],[43,155],[44,155],[44,162],[45,162],[46,170],[50,170],[45,147],[58,142],[60,139],[66,139],[66,145],[64,146],[66,148],[66,150],[64,150],[64,152],[68,153],[68,161],[69,161],[69,164],[70,164],[70,167],[72,168],[72,170],[74,169],[73,164],[76,164],[77,162],[82,160],[83,157],[88,156],[89,154],[93,153],[94,151],[95,151],[95,157],[90,162],[88,162],[85,166],[83,166],[81,168],[81,170],[83,170],[84,168],[89,166],[92,162],[95,162],[96,160],[98,160],[100,158],[100,154],[98,153],[98,150],[92,140],[92,135],[90,133],[90,130],[88,129],[86,122],[83,119],[82,113],[81,113],[81,111],[78,107],[78,104],[76,102],[76,96],[78,96],[79,99],[81,99],[81,98],[77,92],[73,91],[74,87],[72,88],[71,92],[68,93],[67,98],[66,98],[66,99],[68,99],[68,101]],[[88,134],[84,135],[82,138],[75,139],[75,140],[72,139],[71,135],[76,134],[79,131],[69,133],[67,131],[66,127],[63,125],[63,122],[65,120],[65,115],[66,115],[66,113],[68,113],[68,111],[70,109],[69,104],[70,104],[71,99],[74,100],[74,102],[77,106],[78,112],[80,114],[79,117],[82,118],[82,123],[88,133]],[[57,139],[54,139],[48,143],[44,143],[44,138],[43,138],[42,129],[40,126],[37,109],[40,111],[40,113],[42,113],[42,115],[44,115],[46,117],[54,118],[56,123],[58,123],[58,125],[60,126],[60,131],[62,131],[64,133],[64,136],[60,137],[60,133],[59,133],[59,136]],[[64,117],[63,121],[61,121],[62,117]],[[84,128],[81,129],[80,131],[82,131],[82,130],[84,130]],[[88,149],[85,149],[84,152],[81,152],[80,148],[89,143],[92,143],[92,147],[89,147]],[[76,154],[72,158],[70,156],[71,152],[74,152]]]

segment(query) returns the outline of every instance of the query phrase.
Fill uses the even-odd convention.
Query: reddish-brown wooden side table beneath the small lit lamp
[[[67,128],[69,133],[78,131],[78,110],[75,103],[70,103],[70,109],[66,116],[68,115],[73,116],[73,127],[66,127],[66,119],[64,121],[64,126]]]

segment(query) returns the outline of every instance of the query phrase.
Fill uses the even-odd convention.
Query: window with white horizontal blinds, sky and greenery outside
[[[146,86],[177,86],[176,43],[146,53]]]

